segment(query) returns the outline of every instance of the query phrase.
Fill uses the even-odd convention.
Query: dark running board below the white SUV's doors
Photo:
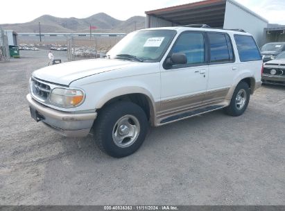
[[[217,109],[220,109],[223,107],[225,107],[225,106],[224,105],[210,105],[210,106],[205,107],[205,108],[199,108],[197,110],[187,111],[187,112],[181,113],[179,115],[174,115],[172,117],[167,117],[166,119],[162,119],[162,121],[160,121],[160,124],[165,124],[165,123],[170,122],[170,121],[176,121],[178,119],[185,119],[187,117],[193,117],[193,116],[199,115],[201,113],[210,112],[211,110],[217,110]]]

